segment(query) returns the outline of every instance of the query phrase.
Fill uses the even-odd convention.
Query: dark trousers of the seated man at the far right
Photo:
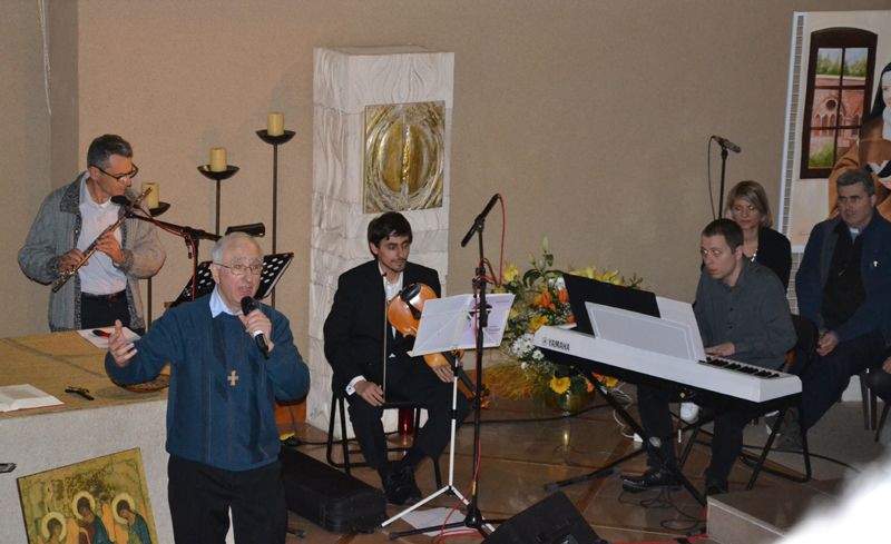
[[[802,377],[804,428],[811,428],[842,396],[851,376],[882,365],[887,355],[882,334],[874,330],[842,342],[829,355],[816,356]]]

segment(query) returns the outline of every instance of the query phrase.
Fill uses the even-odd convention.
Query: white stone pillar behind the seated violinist
[[[331,367],[322,326],[341,273],[372,258],[364,214],[362,161],[366,106],[444,102],[446,167],[442,207],[402,211],[412,225],[410,259],[435,268],[447,285],[449,254],[449,156],[454,53],[418,46],[315,49],[313,201],[309,365],[312,388],[307,423],[327,429]],[[394,412],[394,411],[389,411]],[[395,415],[384,422],[395,428]],[[336,427],[335,427],[336,429]],[[340,433],[337,433],[340,435]]]

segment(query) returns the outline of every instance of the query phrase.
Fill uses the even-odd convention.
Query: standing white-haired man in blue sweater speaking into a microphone
[[[260,286],[257,243],[227,235],[213,260],[214,291],[166,311],[140,340],[127,342],[118,322],[105,368],[112,380],[134,384],[170,362],[167,496],[176,542],[222,544],[231,511],[236,543],[284,544],[274,402],[306,395],[310,373],[287,318],[244,304]]]

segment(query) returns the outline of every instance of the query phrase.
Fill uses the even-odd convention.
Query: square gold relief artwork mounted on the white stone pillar
[[[444,108],[444,102],[365,107],[365,214],[442,206]]]

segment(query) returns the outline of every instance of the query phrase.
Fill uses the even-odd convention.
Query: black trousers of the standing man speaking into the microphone
[[[237,544],[283,544],[287,506],[277,461],[253,471],[232,472],[175,455],[167,463],[167,498],[174,541],[222,544],[232,525]]]

